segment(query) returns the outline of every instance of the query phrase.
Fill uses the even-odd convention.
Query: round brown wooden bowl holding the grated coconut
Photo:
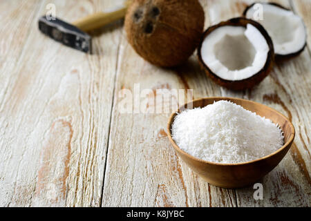
[[[265,157],[261,157],[258,160],[252,160],[238,164],[207,162],[205,160],[200,160],[192,155],[189,155],[185,151],[182,151],[182,149],[177,146],[171,137],[171,125],[177,113],[180,113],[187,108],[202,108],[208,104],[218,102],[219,100],[234,102],[243,106],[243,108],[247,109],[248,111],[252,111],[257,115],[260,115],[261,117],[271,119],[274,124],[279,124],[279,126],[281,126],[281,130],[284,133],[284,146],[279,148],[274,153],[271,153]],[[167,131],[169,141],[173,145],[173,148],[178,153],[180,158],[194,172],[198,173],[200,177],[207,180],[207,182],[210,184],[225,188],[239,188],[248,186],[260,180],[261,177],[272,171],[272,169],[274,169],[274,167],[277,166],[279,162],[281,162],[285,154],[288,153],[288,150],[290,149],[295,136],[295,129],[290,120],[278,111],[275,111],[274,109],[263,104],[231,97],[207,97],[196,99],[193,102],[181,106],[178,109],[178,112],[173,113],[171,117],[169,117]]]

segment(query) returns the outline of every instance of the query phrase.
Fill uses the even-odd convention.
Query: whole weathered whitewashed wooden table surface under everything
[[[205,28],[252,3],[200,2]],[[117,1],[1,0],[0,206],[310,206],[311,1],[277,2],[303,17],[308,47],[235,93],[206,77],[195,56],[173,69],[147,63],[127,43],[122,21],[93,33],[93,55],[37,28],[48,3],[75,21]],[[193,173],[169,144],[169,113],[120,113],[122,89],[133,92],[135,84],[193,89],[194,99],[243,97],[288,116],[294,144],[261,180],[263,200],[254,200],[253,186],[222,189]]]

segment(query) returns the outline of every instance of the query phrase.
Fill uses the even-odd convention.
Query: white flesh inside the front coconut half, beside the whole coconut
[[[220,26],[205,37],[202,61],[214,75],[229,80],[247,79],[259,73],[268,59],[269,46],[261,32],[247,24]]]

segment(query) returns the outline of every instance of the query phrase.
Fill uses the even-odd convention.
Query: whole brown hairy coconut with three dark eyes
[[[134,0],[125,30],[135,51],[151,64],[182,64],[200,43],[204,11],[197,0]]]

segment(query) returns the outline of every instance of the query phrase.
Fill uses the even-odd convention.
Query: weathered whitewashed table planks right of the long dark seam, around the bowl
[[[248,3],[252,2],[229,1],[228,3],[228,1],[202,1],[205,9],[207,9],[206,15],[209,15],[207,16],[207,23],[208,21],[211,21],[210,23],[217,23],[224,19],[229,19],[231,17],[241,15],[245,6]],[[288,1],[281,1],[280,3],[283,3],[284,6],[290,7],[290,3]],[[292,97],[290,99],[295,100],[299,99],[299,96],[305,95],[299,95],[299,93],[296,92],[294,93],[294,90],[299,90],[299,88],[290,88],[289,83],[286,83],[288,82],[288,77],[286,75],[296,75],[292,76],[291,79],[293,79],[294,77],[298,79],[299,73],[305,72],[304,76],[302,76],[305,81],[301,88],[307,88],[307,90],[308,88],[310,88],[310,86],[308,85],[308,81],[310,81],[310,71],[308,70],[308,66],[310,66],[310,57],[308,56],[307,52],[304,52],[301,57],[292,60],[291,63],[276,66],[276,69],[272,73],[272,77],[268,77],[267,79],[265,79],[265,81],[261,83],[258,87],[254,88],[254,90],[246,90],[242,93],[233,93],[232,91],[219,88],[218,86],[215,86],[213,83],[211,83],[211,81],[207,79],[204,74],[202,74],[202,72],[198,68],[198,65],[196,64],[196,59],[194,58],[191,58],[189,62],[185,64],[185,66],[176,68],[175,70],[163,70],[163,72],[166,72],[167,76],[165,77],[164,81],[162,81],[162,73],[157,73],[157,70],[154,69],[153,66],[147,64],[145,61],[140,60],[140,63],[138,63],[139,59],[133,59],[133,57],[135,57],[135,54],[133,54],[133,50],[129,48],[126,41],[122,41],[122,45],[125,49],[120,51],[120,66],[118,66],[118,73],[121,72],[122,76],[120,76],[120,74],[117,75],[116,90],[120,90],[124,87],[133,89],[133,85],[135,83],[143,84],[145,88],[154,88],[156,87],[155,84],[157,82],[160,82],[158,84],[167,84],[170,88],[173,88],[174,85],[176,88],[194,88],[194,97],[222,95],[231,97],[245,97],[247,99],[263,102],[264,104],[270,105],[283,113],[285,112],[285,115],[288,115],[288,117],[292,119],[292,112],[290,111],[294,111],[295,108],[294,105],[290,104],[288,95]],[[297,66],[300,66],[300,68],[290,68],[290,66],[294,66],[295,62]],[[133,68],[135,68],[135,70],[133,70],[133,73],[131,73],[130,71],[127,71],[126,73],[125,68],[126,70],[133,70]],[[175,75],[171,75],[171,73],[174,73]],[[130,81],[130,77],[128,77],[127,75],[131,75]],[[176,78],[178,81],[176,81]],[[280,81],[282,83],[280,83]],[[178,84],[176,85],[176,83]],[[285,86],[288,86],[289,88],[286,87],[285,89],[283,84],[285,84]],[[276,101],[274,101],[273,99],[268,99],[270,95],[274,96],[274,94],[276,96],[282,96],[282,99],[286,100],[283,102],[281,98],[276,99]],[[309,98],[308,100],[310,101]],[[304,155],[305,159],[303,159],[302,157],[299,158],[300,162],[296,162],[297,157],[292,157],[292,159],[288,160],[288,164],[285,164],[285,167],[278,166],[275,171],[280,171],[279,173],[270,173],[269,175],[267,175],[265,179],[270,178],[270,180],[278,180],[278,184],[276,185],[283,185],[285,191],[278,191],[276,189],[276,191],[274,192],[274,188],[273,186],[271,186],[271,182],[263,180],[263,184],[265,186],[265,200],[259,202],[253,199],[252,194],[254,193],[254,190],[252,188],[238,189],[236,191],[219,189],[214,186],[212,186],[211,188],[209,184],[206,184],[205,182],[202,182],[202,180],[198,179],[198,177],[196,177],[196,175],[189,171],[187,166],[185,166],[185,164],[183,164],[182,162],[179,162],[179,160],[178,164],[182,165],[180,167],[182,170],[179,173],[181,175],[178,176],[178,179],[175,178],[175,183],[169,182],[169,180],[171,180],[171,177],[176,177],[176,175],[174,175],[174,171],[169,169],[169,161],[167,161],[166,158],[167,155],[171,155],[172,157],[174,153],[169,152],[166,153],[167,155],[164,155],[160,152],[162,149],[162,142],[158,142],[157,144],[155,144],[155,138],[150,137],[155,133],[155,131],[159,130],[158,128],[160,125],[163,124],[163,118],[165,118],[166,116],[164,115],[161,117],[160,115],[120,115],[117,113],[117,102],[118,101],[116,100],[116,104],[114,104],[113,106],[113,120],[111,122],[111,137],[107,161],[107,171],[105,175],[106,182],[104,185],[103,205],[281,206],[282,204],[286,204],[294,206],[297,204],[297,202],[299,202],[299,199],[301,200],[301,206],[308,206],[310,204],[310,182],[308,178],[308,174],[310,173],[310,166],[299,166],[301,164],[310,165],[308,164],[308,161],[310,160],[310,156],[308,155]],[[284,107],[285,109],[283,109]],[[307,110],[308,109],[305,109],[305,111]],[[300,110],[296,109],[295,111]],[[307,120],[310,117],[308,113],[304,113],[302,116],[305,117]],[[294,120],[296,120],[297,122],[297,119]],[[148,127],[144,126],[146,124],[148,125]],[[306,126],[308,127],[308,125]],[[135,136],[145,137],[146,135],[149,138],[144,138],[144,140],[142,140],[142,143],[138,142],[138,139],[135,138]],[[124,143],[124,140],[126,140],[126,143]],[[299,145],[299,140],[296,141],[296,143],[297,145]],[[141,146],[142,144],[144,145],[144,147]],[[165,146],[165,148],[169,148],[169,144],[167,144],[167,142],[165,144],[166,145],[163,146]],[[155,145],[156,151],[159,151],[160,153],[156,153],[153,151]],[[125,150],[124,146],[127,146]],[[128,148],[131,149],[128,150]],[[151,148],[152,152],[147,152],[145,148]],[[298,149],[293,149],[296,150],[296,153],[299,153]],[[166,151],[171,150],[167,149]],[[147,157],[147,155],[157,156],[157,161],[149,162],[142,160],[142,157]],[[296,154],[294,154],[294,156],[296,156]],[[128,159],[127,157],[131,157],[133,159]],[[120,166],[120,162],[113,160],[116,158],[120,159],[120,162],[124,162],[126,166]],[[286,158],[288,158],[288,156]],[[153,176],[150,177],[148,171],[148,168],[150,166],[147,166],[150,163],[158,164],[159,166],[162,166],[162,164],[167,165],[166,170],[164,170],[164,174],[161,173],[162,176],[158,177],[158,175],[152,173]],[[304,173],[294,172],[299,170],[307,171],[304,171]],[[134,173],[134,171],[140,172]],[[120,176],[120,174],[126,175]],[[305,177],[305,175],[307,176]],[[294,182],[294,180],[296,179],[300,180],[299,184],[296,184],[296,182]],[[142,180],[144,180],[144,182],[142,182]],[[290,180],[290,182],[285,182],[285,180]],[[165,188],[163,187],[163,182],[165,182]],[[147,191],[147,194],[145,193],[147,189],[146,185],[149,187],[149,191]],[[299,188],[301,188],[301,191],[293,191],[293,189],[295,189],[295,185],[298,185]],[[119,189],[122,189],[122,191],[116,191]],[[159,204],[157,200],[155,200],[155,202],[157,202],[156,204],[152,204],[151,202],[147,202],[146,204],[146,202],[141,200],[141,195],[143,195],[143,199],[145,199],[146,197],[157,199],[157,195],[155,197],[154,194],[155,192],[158,193],[159,190],[162,191],[162,195],[164,195],[164,200],[162,200],[162,204]],[[185,193],[182,193],[182,190],[185,190]],[[220,191],[220,194],[217,193],[218,190]],[[272,191],[272,193],[269,193],[268,190]],[[172,195],[173,193],[171,192],[179,195],[179,198],[177,198],[176,195]],[[306,194],[303,195],[301,193]],[[207,195],[209,196],[207,197]],[[271,195],[274,195],[274,197],[272,197]],[[287,200],[286,202],[283,202],[284,200],[274,200],[274,198],[278,199],[282,197],[292,200]],[[202,201],[201,199],[205,200]]]

